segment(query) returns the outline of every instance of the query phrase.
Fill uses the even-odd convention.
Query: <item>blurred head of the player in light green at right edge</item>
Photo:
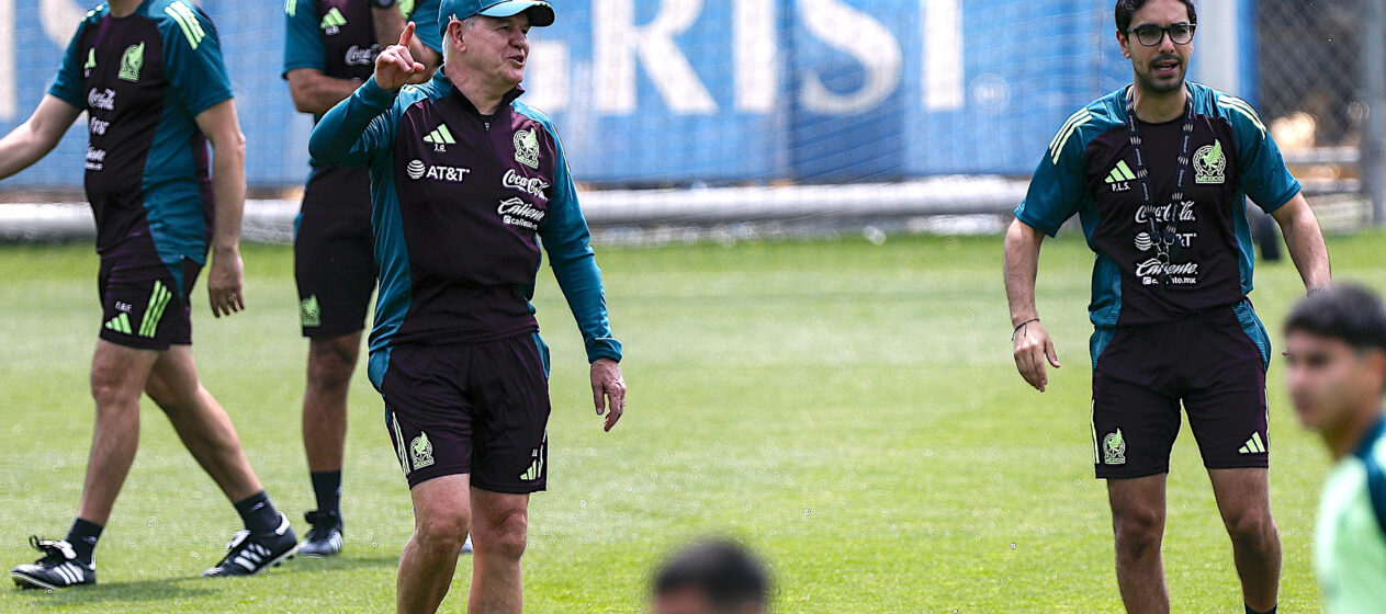
[[[1386,309],[1360,286],[1314,292],[1295,305],[1285,323],[1285,358],[1300,423],[1329,438],[1329,445],[1358,432],[1380,414]]]

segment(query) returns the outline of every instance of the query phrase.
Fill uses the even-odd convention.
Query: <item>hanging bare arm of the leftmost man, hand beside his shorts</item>
[[[245,208],[245,134],[236,116],[236,103],[225,100],[197,115],[197,128],[212,143],[212,267],[207,292],[212,315],[220,317],[245,309],[241,286],[241,215]]]

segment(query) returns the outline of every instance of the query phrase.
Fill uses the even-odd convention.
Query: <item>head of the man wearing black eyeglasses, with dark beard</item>
[[[1116,21],[1121,55],[1131,60],[1141,91],[1179,91],[1199,24],[1193,0],[1117,0]]]

